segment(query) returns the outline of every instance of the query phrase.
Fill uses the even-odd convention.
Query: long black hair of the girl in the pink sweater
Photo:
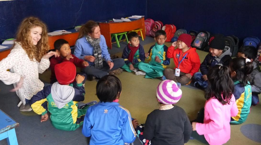
[[[234,82],[230,77],[230,69],[216,65],[207,74],[208,86],[205,90],[205,98],[217,99],[221,104],[229,104],[234,91]]]

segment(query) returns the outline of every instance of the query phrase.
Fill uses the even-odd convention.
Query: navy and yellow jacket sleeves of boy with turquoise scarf
[[[151,56],[152,56],[152,49],[153,49],[153,47],[154,47],[155,45],[152,45],[151,47],[150,47],[150,50],[149,50],[149,57],[148,58],[146,58],[146,60],[147,61],[151,61]],[[163,54],[161,54],[162,55],[162,57],[163,57],[163,59],[161,60],[161,65],[162,65],[162,67],[163,68],[167,68],[167,65],[169,65],[169,63],[170,63],[170,58],[169,57],[167,57],[166,56],[166,53],[167,53],[167,51],[168,51],[168,47],[166,46],[166,45],[164,45],[163,46]],[[161,59],[161,58],[160,58]],[[153,60],[154,61],[154,60]]]

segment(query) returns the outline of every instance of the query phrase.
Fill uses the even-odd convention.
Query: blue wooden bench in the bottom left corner
[[[15,127],[19,126],[14,119],[0,109],[0,140],[7,139],[9,145],[18,144]]]

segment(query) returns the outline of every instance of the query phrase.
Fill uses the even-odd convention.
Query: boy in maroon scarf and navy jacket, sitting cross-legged
[[[139,70],[139,62],[144,62],[145,60],[144,49],[140,45],[139,35],[136,32],[130,32],[127,38],[129,43],[122,53],[122,58],[125,62],[122,68],[128,72],[134,71],[136,73]]]

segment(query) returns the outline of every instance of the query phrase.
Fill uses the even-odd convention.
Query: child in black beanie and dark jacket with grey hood
[[[200,65],[200,72],[194,74],[194,86],[207,88],[207,74],[213,66],[228,66],[232,60],[230,48],[225,46],[225,38],[222,34],[216,34],[209,40],[209,54]]]

